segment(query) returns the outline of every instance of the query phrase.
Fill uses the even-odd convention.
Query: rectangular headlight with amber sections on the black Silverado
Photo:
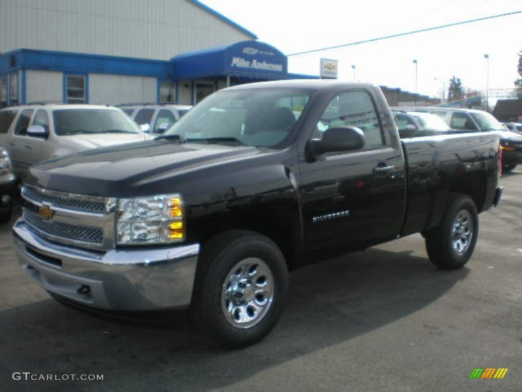
[[[185,240],[180,194],[118,199],[118,245],[170,244]]]

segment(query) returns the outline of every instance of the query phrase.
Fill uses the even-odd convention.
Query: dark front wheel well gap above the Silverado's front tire
[[[300,225],[292,216],[299,216],[291,207],[257,207],[254,211],[236,212],[224,216],[210,225],[205,240],[226,230],[243,229],[263,234],[279,247],[291,270],[296,260],[296,243]]]

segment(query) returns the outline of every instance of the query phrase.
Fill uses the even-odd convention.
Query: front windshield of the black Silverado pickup
[[[187,142],[280,148],[310,100],[311,91],[252,88],[218,91],[164,133]]]

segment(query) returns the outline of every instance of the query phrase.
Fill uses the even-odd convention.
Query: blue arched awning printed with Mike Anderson
[[[175,80],[238,76],[277,80],[288,78],[287,56],[259,41],[180,54],[171,59]]]

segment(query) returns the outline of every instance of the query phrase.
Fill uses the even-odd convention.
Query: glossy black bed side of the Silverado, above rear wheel
[[[479,212],[491,207],[499,175],[497,135],[425,136],[402,139],[401,144],[407,171],[406,216],[401,235],[438,225],[450,191],[472,189]]]

